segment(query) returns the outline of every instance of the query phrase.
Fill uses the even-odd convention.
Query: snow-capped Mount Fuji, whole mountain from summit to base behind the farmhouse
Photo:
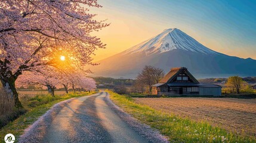
[[[90,68],[92,76],[134,79],[145,65],[166,73],[171,67],[187,67],[198,78],[256,76],[256,60],[213,51],[176,28],[97,63],[100,65]]]

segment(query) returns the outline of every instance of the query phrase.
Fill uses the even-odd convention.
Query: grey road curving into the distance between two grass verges
[[[124,113],[107,92],[54,105],[19,142],[168,142]]]

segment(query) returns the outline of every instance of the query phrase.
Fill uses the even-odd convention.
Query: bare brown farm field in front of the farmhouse
[[[256,136],[256,99],[134,98],[166,113],[206,121],[242,135]]]

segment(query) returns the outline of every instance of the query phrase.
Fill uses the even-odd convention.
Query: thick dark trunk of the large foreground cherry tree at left
[[[17,108],[23,108],[21,105],[20,100],[18,100],[18,92],[15,88],[15,81],[17,78],[14,77],[4,77],[1,78],[2,86],[4,87],[5,91],[11,95],[11,97],[15,100],[15,107]]]

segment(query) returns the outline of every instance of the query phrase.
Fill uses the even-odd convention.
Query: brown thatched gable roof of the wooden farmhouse
[[[194,83],[199,83],[198,80],[192,74],[187,70],[186,67],[174,67],[172,68],[169,73],[163,77],[159,83],[169,83],[171,80],[173,80],[181,71],[185,70],[186,73],[190,76],[190,78],[193,80]]]

